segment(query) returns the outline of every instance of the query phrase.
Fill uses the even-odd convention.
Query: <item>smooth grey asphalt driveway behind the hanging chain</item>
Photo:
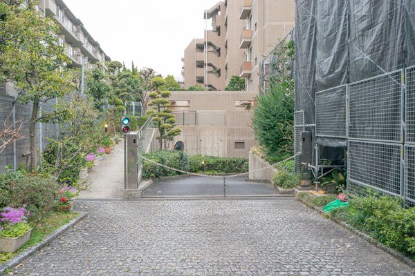
[[[246,177],[226,179],[228,197],[278,196],[277,189],[266,183],[246,181]],[[142,197],[223,197],[223,179],[206,177],[172,177],[154,179]]]

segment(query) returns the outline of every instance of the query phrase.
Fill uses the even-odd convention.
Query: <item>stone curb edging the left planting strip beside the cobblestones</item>
[[[14,268],[24,260],[28,259],[28,257],[35,254],[37,251],[41,250],[45,246],[48,246],[50,242],[52,242],[54,239],[65,233],[66,230],[73,228],[75,224],[84,219],[87,215],[88,213],[81,212],[80,215],[75,217],[75,219],[71,220],[71,222],[55,230],[55,232],[53,232],[52,234],[48,235],[48,237],[46,237],[42,242],[40,242],[40,244],[36,244],[35,246],[24,250],[24,252],[20,253],[18,256],[14,257],[13,259],[10,259],[8,262],[5,262],[4,264],[1,264],[0,275],[4,275],[7,269]]]

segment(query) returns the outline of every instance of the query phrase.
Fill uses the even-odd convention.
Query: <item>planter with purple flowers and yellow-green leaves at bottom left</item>
[[[0,251],[14,253],[30,239],[29,213],[25,208],[6,207],[0,215]]]

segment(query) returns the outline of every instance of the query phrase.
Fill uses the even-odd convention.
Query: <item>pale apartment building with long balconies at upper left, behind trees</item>
[[[98,62],[104,64],[110,60],[64,1],[39,0],[38,5],[40,12],[47,17],[53,17],[59,24],[59,44],[64,46],[66,55],[71,59],[70,66],[81,67],[84,59],[86,67],[93,68]]]

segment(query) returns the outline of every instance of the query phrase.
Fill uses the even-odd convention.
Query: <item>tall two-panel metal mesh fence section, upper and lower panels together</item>
[[[403,195],[403,70],[349,84],[348,188]]]

